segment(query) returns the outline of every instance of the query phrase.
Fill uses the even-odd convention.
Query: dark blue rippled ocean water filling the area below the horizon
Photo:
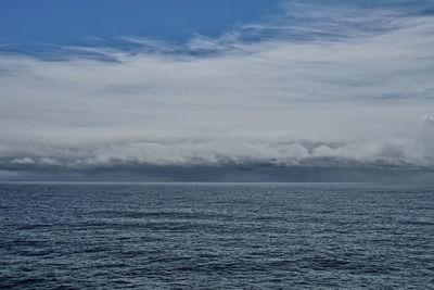
[[[0,184],[7,289],[434,289],[434,186]]]

